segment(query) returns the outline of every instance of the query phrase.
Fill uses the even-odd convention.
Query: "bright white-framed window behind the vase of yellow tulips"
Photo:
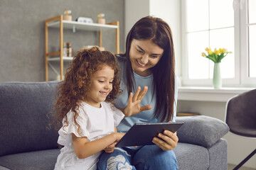
[[[256,1],[182,1],[183,85],[211,86],[213,65],[206,47],[225,47],[223,86],[256,86]]]

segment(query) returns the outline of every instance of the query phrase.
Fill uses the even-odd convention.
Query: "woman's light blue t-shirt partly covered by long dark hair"
[[[127,86],[125,84],[125,62],[119,62],[120,67],[120,89],[122,89],[122,95],[117,96],[117,98],[114,100],[114,106],[117,108],[125,108],[127,106],[128,101],[128,94],[127,94]],[[154,82],[153,82],[153,74],[150,74],[147,77],[139,76],[138,74],[134,73],[134,81],[135,81],[135,90],[137,90],[137,87],[140,86],[141,89],[144,88],[144,86],[148,86],[148,91],[146,92],[144,98],[142,99],[142,102],[140,103],[140,106],[146,106],[151,105],[152,108],[148,111],[142,111],[138,113],[137,115],[132,115],[127,118],[124,118],[122,122],[117,126],[118,132],[127,132],[129,128],[134,125],[134,123],[156,123],[157,119],[154,118],[154,111],[156,108],[156,94],[153,95],[154,92]],[[134,91],[132,91],[134,94]],[[173,122],[175,122],[176,118],[176,103],[177,103],[177,96],[178,96],[178,83],[177,79],[175,78],[175,94],[174,99],[176,102],[174,102],[174,118]]]

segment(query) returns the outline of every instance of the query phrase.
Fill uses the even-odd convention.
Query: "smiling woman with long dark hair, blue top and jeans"
[[[127,35],[126,52],[117,55],[122,77],[122,96],[114,105],[125,108],[129,92],[144,86],[147,90],[138,112],[125,118],[117,127],[127,132],[134,123],[155,123],[175,121],[177,81],[174,69],[174,43],[169,25],[160,18],[151,16],[137,21]],[[149,106],[150,104],[150,106]],[[97,164],[98,169],[178,169],[172,149],[176,147],[176,133],[165,130],[154,137],[156,145],[144,147],[105,149]]]

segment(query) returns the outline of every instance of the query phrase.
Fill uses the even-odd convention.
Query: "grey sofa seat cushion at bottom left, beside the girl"
[[[0,157],[0,165],[6,169],[49,170],[54,169],[58,154],[60,154],[60,149],[11,154]]]

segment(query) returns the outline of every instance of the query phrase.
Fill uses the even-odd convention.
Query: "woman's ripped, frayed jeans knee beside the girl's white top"
[[[106,153],[103,152],[100,155],[99,162],[97,163],[98,170],[136,170],[134,166],[131,165],[132,159],[131,155],[127,153],[122,148],[115,148],[114,152]]]

